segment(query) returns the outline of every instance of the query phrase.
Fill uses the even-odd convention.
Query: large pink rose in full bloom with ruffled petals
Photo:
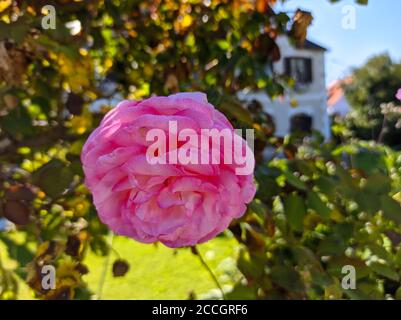
[[[175,122],[179,131],[192,129],[198,137],[202,129],[233,132],[226,117],[203,93],[123,101],[104,117],[83,147],[85,183],[100,219],[117,234],[144,243],[192,246],[213,238],[244,214],[255,195],[254,157],[246,154],[251,172],[243,175],[237,174],[241,165],[235,161],[224,163],[222,147],[218,152],[222,161],[217,164],[152,164],[147,150],[154,141],[148,141],[148,132],[161,129],[170,137],[170,122]],[[249,151],[239,136],[233,136],[231,143],[240,144],[240,151]],[[154,156],[170,159],[172,152],[181,148],[184,144],[178,142],[175,150]],[[196,148],[200,151],[204,146]],[[213,146],[211,159],[212,151]]]

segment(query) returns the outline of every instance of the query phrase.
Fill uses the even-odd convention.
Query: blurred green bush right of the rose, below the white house
[[[244,282],[229,297],[400,298],[401,154],[319,139],[293,149],[257,167],[257,196],[231,226]],[[345,265],[355,290],[341,286]]]

